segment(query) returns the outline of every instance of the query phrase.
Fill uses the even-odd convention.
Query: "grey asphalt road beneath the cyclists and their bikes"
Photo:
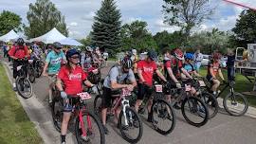
[[[106,74],[109,67],[102,69],[102,73]],[[38,120],[40,127],[44,129],[45,124],[52,123],[50,111],[47,107],[47,85],[46,78],[41,77],[33,83],[33,89],[36,99],[43,104],[43,108],[38,108],[36,111],[46,109],[47,118],[40,119],[39,114],[34,117]],[[91,99],[92,101],[93,99]],[[89,108],[92,109],[91,101],[89,102]],[[170,135],[159,135],[153,130],[150,123],[146,122],[146,116],[141,116],[143,121],[143,135],[139,144],[255,144],[256,143],[256,119],[252,117],[231,117],[226,112],[221,111],[219,114],[210,119],[209,122],[200,128],[193,127],[188,124],[184,117],[180,114],[180,111],[175,111],[177,120],[174,128],[174,132]],[[110,131],[109,135],[106,135],[107,144],[120,144],[127,143],[120,136],[117,126],[113,122],[109,122],[107,127]],[[46,128],[49,135],[52,135],[52,143],[60,143],[59,135],[54,128]],[[76,143],[72,133],[69,133],[69,143]],[[44,138],[44,137],[43,137]],[[57,139],[57,140],[56,140]]]

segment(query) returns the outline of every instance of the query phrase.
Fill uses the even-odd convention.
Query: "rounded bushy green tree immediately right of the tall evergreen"
[[[120,38],[123,50],[131,48],[156,48],[157,45],[152,34],[147,29],[148,24],[143,21],[134,21],[121,27]]]

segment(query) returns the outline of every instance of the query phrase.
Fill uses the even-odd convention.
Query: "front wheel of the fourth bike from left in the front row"
[[[189,97],[182,101],[181,112],[183,117],[196,127],[205,125],[209,119],[206,104],[201,99],[195,97]]]

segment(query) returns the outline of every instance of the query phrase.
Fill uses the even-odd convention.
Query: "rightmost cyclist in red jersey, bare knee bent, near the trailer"
[[[212,84],[211,91],[214,96],[217,95],[217,89],[220,86],[220,81],[217,80],[217,74],[222,79],[222,81],[225,81],[222,71],[221,71],[221,64],[220,64],[221,54],[218,52],[214,52],[212,55],[212,60],[210,61],[208,65],[208,71],[207,71],[207,80],[210,81]]]

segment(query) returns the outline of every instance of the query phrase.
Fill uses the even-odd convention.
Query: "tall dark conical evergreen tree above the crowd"
[[[114,0],[103,0],[101,9],[99,9],[94,17],[92,26],[92,43],[101,48],[102,51],[117,51],[120,47],[120,11],[117,9]]]

